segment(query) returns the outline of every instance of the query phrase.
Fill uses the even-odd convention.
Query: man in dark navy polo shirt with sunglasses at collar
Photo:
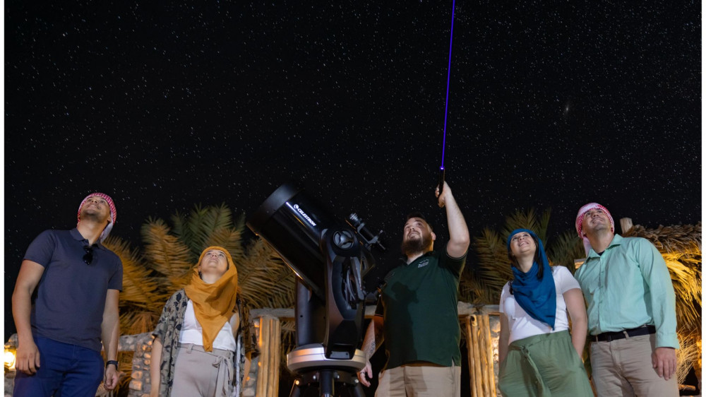
[[[14,396],[92,397],[103,379],[115,388],[123,268],[101,244],[115,219],[112,199],[90,194],[75,229],[45,230],[27,249],[12,295]]]

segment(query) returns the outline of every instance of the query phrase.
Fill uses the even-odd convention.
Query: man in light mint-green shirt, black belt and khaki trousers
[[[599,396],[678,396],[674,288],[647,239],[614,234],[597,203],[583,206],[576,230],[585,263],[575,278],[588,304],[592,379]]]

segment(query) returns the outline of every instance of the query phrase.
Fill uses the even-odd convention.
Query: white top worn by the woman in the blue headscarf
[[[566,302],[564,302],[564,292],[581,288],[578,281],[573,278],[568,268],[564,266],[551,266],[551,275],[554,276],[554,286],[556,287],[556,318],[554,319],[554,329],[549,324],[533,319],[525,309],[515,300],[514,295],[510,295],[510,283],[506,283],[500,295],[500,312],[508,317],[510,326],[510,343],[515,340],[529,338],[530,336],[542,333],[553,333],[565,331],[569,328],[568,316],[566,315]]]

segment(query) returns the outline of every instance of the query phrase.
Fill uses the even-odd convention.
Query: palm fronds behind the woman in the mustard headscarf
[[[249,307],[294,307],[294,273],[262,239],[244,247],[244,215],[233,218],[221,206],[195,206],[188,214],[176,213],[172,225],[149,218],[140,232],[143,249],[134,249],[118,237],[109,237],[105,246],[123,262],[123,291],[120,295],[120,327],[123,334],[152,331],[167,299],[183,288],[206,247],[227,249],[238,269],[241,297]],[[285,337],[293,326],[285,326]],[[125,384],[130,380],[131,357],[124,355],[121,371]],[[127,387],[124,387],[127,389]]]

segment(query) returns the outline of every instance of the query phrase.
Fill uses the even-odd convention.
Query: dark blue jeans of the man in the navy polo
[[[103,380],[100,352],[35,336],[40,367],[28,375],[18,371],[13,396],[94,397]]]

